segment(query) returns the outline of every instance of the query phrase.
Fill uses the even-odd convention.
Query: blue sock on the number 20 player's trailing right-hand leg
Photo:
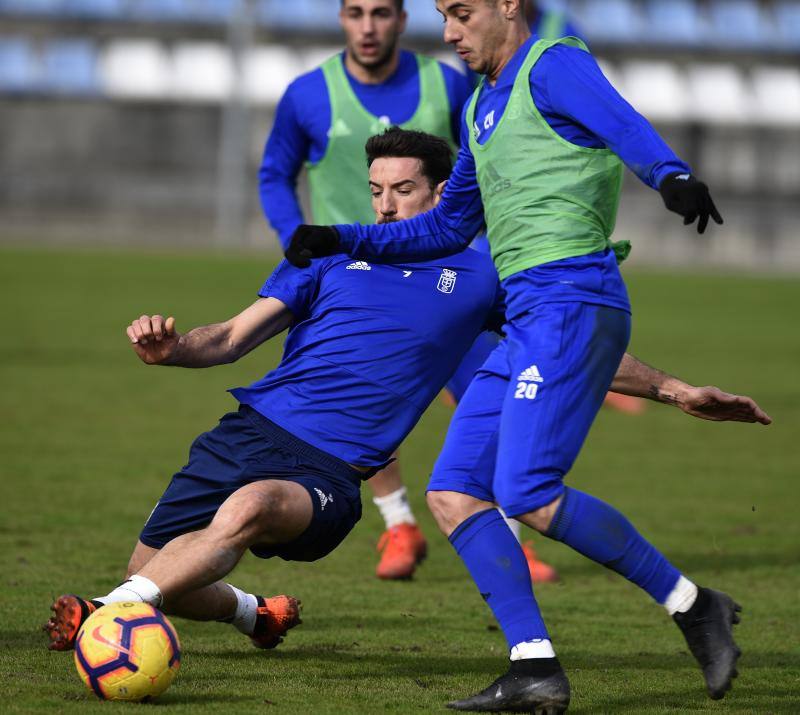
[[[661,604],[681,575],[620,512],[577,489],[565,490],[545,536],[616,571]]]

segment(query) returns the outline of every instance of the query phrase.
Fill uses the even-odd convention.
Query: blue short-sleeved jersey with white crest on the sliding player
[[[407,265],[345,256],[281,263],[259,295],[294,322],[277,368],[232,390],[283,429],[349,464],[384,464],[503,306],[489,256]]]

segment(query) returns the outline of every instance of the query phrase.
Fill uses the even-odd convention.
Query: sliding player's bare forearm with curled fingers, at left
[[[178,333],[175,318],[142,315],[127,328],[139,359],[148,365],[213,367],[235,362],[253,348],[285,330],[292,313],[277,298],[259,298],[223,323]]]

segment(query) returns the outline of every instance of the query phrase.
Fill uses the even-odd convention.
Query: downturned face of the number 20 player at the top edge
[[[521,0],[436,0],[444,18],[444,41],[473,72],[490,74],[508,37],[509,13]]]

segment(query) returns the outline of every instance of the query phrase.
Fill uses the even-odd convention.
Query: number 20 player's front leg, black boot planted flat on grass
[[[428,505],[492,609],[509,648],[508,672],[458,710],[563,712],[569,682],[533,595],[522,546],[494,507],[500,411],[508,386],[506,344],[491,355],[450,423],[428,485]]]

